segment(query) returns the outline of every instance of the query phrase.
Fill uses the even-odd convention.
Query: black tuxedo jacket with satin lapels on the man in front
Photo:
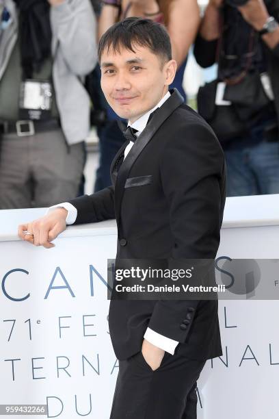
[[[118,151],[112,186],[69,201],[77,208],[75,224],[116,218],[116,262],[214,259],[217,253],[226,196],[224,153],[209,125],[183,104],[176,89],[170,92],[124,161],[129,141]],[[111,300],[116,357],[137,353],[147,327],[178,341],[176,353],[191,359],[222,355],[217,303]]]

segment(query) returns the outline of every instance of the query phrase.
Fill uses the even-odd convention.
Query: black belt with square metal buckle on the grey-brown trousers
[[[0,134],[16,134],[18,137],[34,136],[36,132],[53,131],[60,127],[59,119],[0,120]]]

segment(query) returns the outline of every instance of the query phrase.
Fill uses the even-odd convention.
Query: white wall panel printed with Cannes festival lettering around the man
[[[118,362],[104,281],[116,236],[55,242],[49,250],[0,242],[0,403],[109,419]],[[218,255],[273,258],[278,246],[279,227],[224,229]],[[224,356],[200,375],[198,419],[278,419],[278,318],[277,301],[220,301]]]

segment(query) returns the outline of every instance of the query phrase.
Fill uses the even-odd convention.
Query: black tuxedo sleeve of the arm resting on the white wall
[[[114,186],[99,190],[92,195],[83,195],[68,201],[77,208],[77,218],[73,225],[97,223],[115,218]]]

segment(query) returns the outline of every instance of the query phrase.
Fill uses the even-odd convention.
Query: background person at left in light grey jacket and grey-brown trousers
[[[97,62],[89,0],[0,0],[0,209],[78,194]]]

